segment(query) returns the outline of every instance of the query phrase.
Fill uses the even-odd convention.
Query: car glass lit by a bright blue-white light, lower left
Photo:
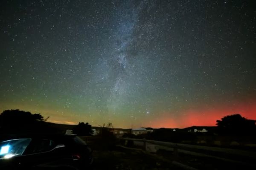
[[[0,143],[0,158],[11,158],[22,155],[31,139],[13,139]]]

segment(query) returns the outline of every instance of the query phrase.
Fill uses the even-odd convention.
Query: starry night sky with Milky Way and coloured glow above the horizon
[[[254,0],[1,0],[0,111],[114,127],[256,119]]]

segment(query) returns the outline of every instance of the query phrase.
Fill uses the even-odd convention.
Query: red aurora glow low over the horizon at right
[[[225,105],[209,108],[190,109],[179,113],[179,116],[166,116],[152,122],[148,126],[154,128],[184,128],[190,126],[215,126],[216,120],[224,116],[240,114],[247,119],[256,119],[256,102],[240,103],[239,105]]]

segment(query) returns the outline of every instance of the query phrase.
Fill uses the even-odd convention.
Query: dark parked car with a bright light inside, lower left
[[[92,150],[76,135],[12,136],[0,142],[0,170],[86,170],[92,162]]]

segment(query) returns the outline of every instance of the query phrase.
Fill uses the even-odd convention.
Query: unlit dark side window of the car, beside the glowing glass
[[[26,154],[47,152],[55,146],[55,142],[50,139],[35,139]]]

